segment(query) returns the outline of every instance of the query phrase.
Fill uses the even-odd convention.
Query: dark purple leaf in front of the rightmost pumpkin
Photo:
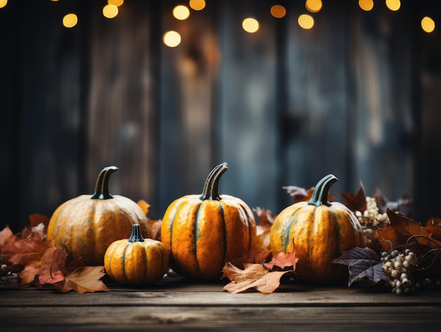
[[[348,287],[355,281],[364,278],[373,281],[373,283],[391,280],[390,276],[383,271],[383,263],[378,254],[368,247],[355,247],[352,250],[345,250],[340,257],[333,260],[333,263],[348,266]]]

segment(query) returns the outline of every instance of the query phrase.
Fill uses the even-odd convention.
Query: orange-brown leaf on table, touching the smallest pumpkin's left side
[[[56,283],[54,286],[61,293],[74,290],[77,293],[110,292],[101,281],[105,275],[104,266],[81,266],[66,278],[64,283]]]

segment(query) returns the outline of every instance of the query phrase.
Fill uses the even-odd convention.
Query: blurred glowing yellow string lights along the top
[[[52,2],[58,2],[59,0],[51,0]],[[383,0],[385,5],[390,11],[398,11],[401,7],[400,0]],[[363,11],[372,11],[374,8],[373,0],[359,0],[359,7]],[[4,8],[8,4],[8,0],[0,0],[0,8]],[[124,4],[124,0],[108,0],[107,4],[102,9],[102,14],[108,19],[116,18],[118,16],[118,8]],[[205,0],[190,0],[188,6],[185,4],[179,4],[173,8],[173,17],[177,20],[187,20],[190,17],[191,11],[202,11],[206,8]],[[309,13],[302,13],[299,15],[297,22],[303,29],[311,29],[314,26],[313,14],[318,13],[323,8],[322,0],[306,0],[305,8]],[[281,4],[275,4],[271,6],[269,12],[274,18],[284,18],[287,14],[285,6]],[[78,18],[75,13],[67,13],[63,17],[63,26],[66,28],[75,27],[78,23]],[[242,20],[242,28],[244,31],[254,33],[259,30],[259,21],[253,17],[247,17]],[[435,30],[435,20],[429,16],[421,18],[421,29],[424,32],[433,32]],[[163,34],[163,43],[168,47],[177,47],[181,42],[181,36],[179,32],[169,30]]]

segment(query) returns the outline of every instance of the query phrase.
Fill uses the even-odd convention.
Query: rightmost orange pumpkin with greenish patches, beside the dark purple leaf
[[[273,254],[290,253],[299,259],[296,273],[307,283],[347,282],[347,266],[333,264],[344,250],[364,247],[364,233],[355,214],[344,204],[328,202],[333,174],[318,181],[309,202],[297,202],[275,218],[270,233]]]

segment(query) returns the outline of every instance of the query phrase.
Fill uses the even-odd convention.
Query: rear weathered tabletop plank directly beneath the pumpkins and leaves
[[[117,288],[109,293],[68,293],[55,290],[19,289],[1,290],[0,308],[36,306],[138,306],[158,307],[201,305],[216,307],[390,307],[390,306],[441,306],[441,293],[420,291],[411,296],[393,293],[373,293],[371,288],[316,288],[304,285],[283,285],[270,295],[249,292],[230,294],[222,292],[223,285],[178,284],[158,288]]]

